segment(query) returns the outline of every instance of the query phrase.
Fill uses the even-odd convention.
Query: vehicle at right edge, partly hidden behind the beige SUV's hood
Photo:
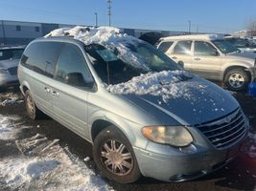
[[[241,52],[256,53],[256,44],[246,38],[227,36],[225,40],[238,48]]]

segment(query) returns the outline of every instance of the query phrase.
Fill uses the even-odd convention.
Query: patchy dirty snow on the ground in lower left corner
[[[0,139],[13,140],[18,117],[0,116]],[[30,128],[30,127],[23,127]],[[73,156],[58,139],[43,135],[15,139],[19,156],[0,158],[0,180],[12,190],[108,190],[105,180]]]

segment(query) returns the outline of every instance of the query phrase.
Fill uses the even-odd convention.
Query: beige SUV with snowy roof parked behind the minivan
[[[180,35],[161,38],[157,48],[187,71],[224,82],[229,90],[241,91],[255,79],[255,53],[240,51],[220,35]]]

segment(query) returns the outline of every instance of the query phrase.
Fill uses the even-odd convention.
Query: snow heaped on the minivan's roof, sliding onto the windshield
[[[149,71],[149,67],[139,59],[140,55],[131,52],[126,44],[136,45],[141,40],[122,33],[120,29],[113,27],[88,28],[77,26],[74,28],[61,28],[46,34],[44,37],[52,36],[72,36],[80,40],[85,45],[100,44],[111,50],[118,50],[118,57],[135,68],[141,68]]]

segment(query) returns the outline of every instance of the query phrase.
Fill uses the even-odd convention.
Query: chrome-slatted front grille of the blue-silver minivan
[[[228,147],[237,142],[246,133],[246,122],[241,109],[237,109],[225,117],[196,125],[195,127],[218,149]]]

